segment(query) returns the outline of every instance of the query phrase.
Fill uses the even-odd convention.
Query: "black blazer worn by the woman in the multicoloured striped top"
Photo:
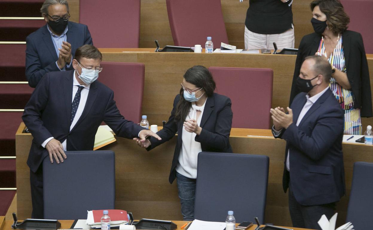
[[[372,94],[363,38],[360,33],[350,30],[343,32],[342,37],[347,77],[351,84],[352,93],[355,95],[354,108],[361,108],[361,117],[372,117]],[[320,40],[321,35],[316,33],[305,35],[301,40],[295,62],[289,104],[292,103],[294,97],[300,92],[295,84],[295,80],[299,76],[301,65],[305,57],[315,55],[319,48]]]

